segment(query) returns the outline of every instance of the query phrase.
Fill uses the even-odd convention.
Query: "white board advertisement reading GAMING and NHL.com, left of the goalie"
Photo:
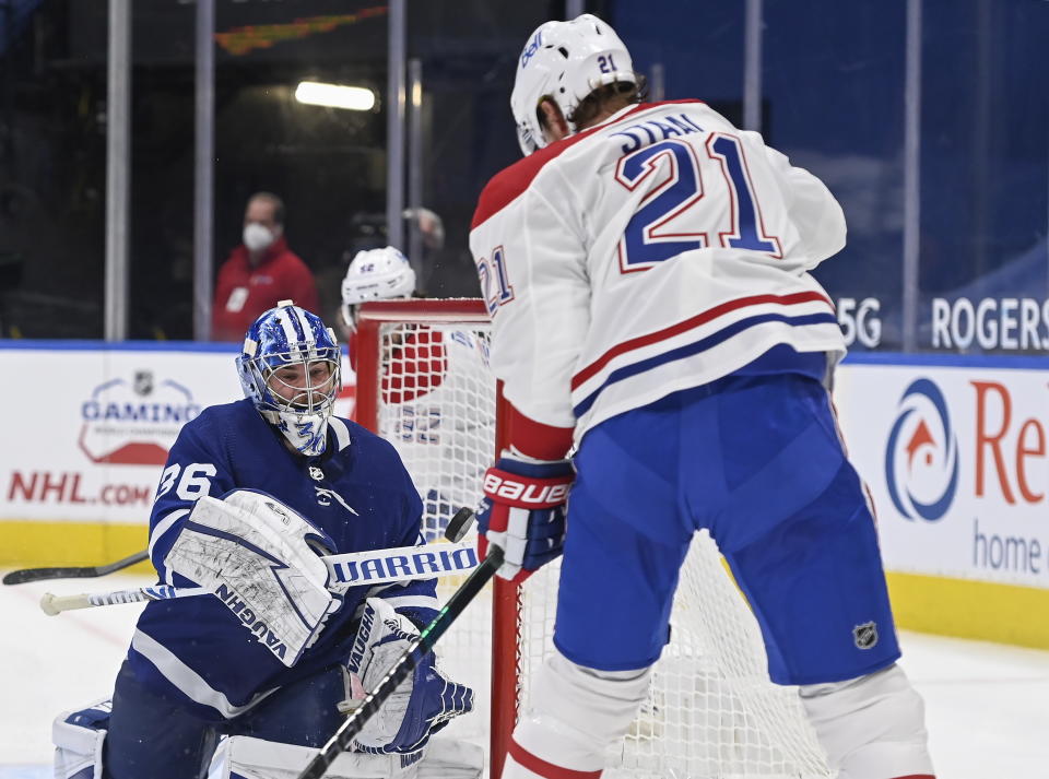
[[[181,426],[244,397],[234,344],[4,341],[0,353],[26,377],[0,396],[13,410],[0,447],[0,521],[145,524]],[[341,416],[353,411],[346,367]]]

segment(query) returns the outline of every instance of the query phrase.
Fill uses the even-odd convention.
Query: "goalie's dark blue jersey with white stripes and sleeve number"
[[[331,417],[325,453],[293,455],[250,401],[211,406],[179,433],[150,517],[150,557],[162,582],[192,586],[164,559],[202,495],[235,488],[269,493],[328,533],[334,554],[422,543],[422,503],[397,451],[347,420]],[[135,676],[155,693],[217,721],[271,691],[342,662],[364,599],[380,595],[416,624],[436,615],[435,580],[356,587],[317,642],[285,668],[212,595],[145,606],[128,651]]]

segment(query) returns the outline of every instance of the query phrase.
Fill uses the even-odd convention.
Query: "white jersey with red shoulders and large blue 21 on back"
[[[630,106],[495,176],[470,247],[492,369],[524,416],[593,425],[777,344],[845,353],[808,271],[845,246],[815,176],[698,101]]]

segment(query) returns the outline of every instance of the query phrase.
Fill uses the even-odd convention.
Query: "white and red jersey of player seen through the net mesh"
[[[423,532],[481,494],[495,441],[488,343],[465,330],[421,327],[384,358],[379,430],[393,444],[423,498]]]

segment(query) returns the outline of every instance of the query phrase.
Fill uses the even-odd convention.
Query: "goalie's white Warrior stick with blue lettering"
[[[456,521],[456,517],[451,522]],[[448,527],[451,528],[451,523]],[[394,581],[457,576],[465,574],[478,565],[473,543],[469,541],[351,552],[342,555],[327,555],[321,559],[328,566],[332,582],[330,589],[334,592],[345,592],[349,588],[361,585],[388,585]],[[45,592],[40,598],[40,609],[45,614],[55,616],[73,609],[166,601],[173,598],[195,598],[210,593],[211,590],[203,587],[172,587],[170,585],[106,592],[82,592],[75,595],[55,595]]]

